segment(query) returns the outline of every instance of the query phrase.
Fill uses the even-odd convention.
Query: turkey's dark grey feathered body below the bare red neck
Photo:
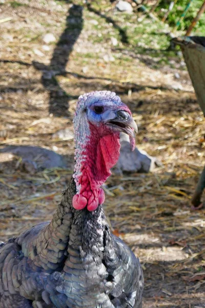
[[[101,204],[78,210],[74,196],[71,178],[50,223],[0,246],[0,308],[141,307],[138,258],[111,234]]]

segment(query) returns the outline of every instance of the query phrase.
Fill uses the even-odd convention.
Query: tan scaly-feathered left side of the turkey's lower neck
[[[22,250],[25,256],[29,256],[33,261],[33,267],[40,267],[47,273],[63,267],[63,261],[67,256],[74,211],[72,198],[75,193],[76,188],[72,178],[63,192],[63,197],[51,222],[40,230],[36,237],[22,244]]]

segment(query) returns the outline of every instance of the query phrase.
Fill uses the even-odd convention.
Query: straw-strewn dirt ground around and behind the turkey
[[[185,63],[166,51],[165,25],[93,3],[0,1],[0,237],[51,219],[74,152],[72,137],[55,133],[72,132],[80,94],[115,91],[138,124],[137,146],[162,162],[104,187],[113,232],[144,268],[144,308],[205,307],[205,210],[190,211],[205,122]],[[54,150],[68,168],[29,173],[8,145]]]

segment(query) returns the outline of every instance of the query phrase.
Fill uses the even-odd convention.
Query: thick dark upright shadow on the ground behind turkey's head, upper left
[[[73,5],[68,11],[66,28],[60,35],[59,41],[54,48],[50,65],[45,66],[33,61],[34,67],[43,72],[42,84],[49,91],[49,113],[57,117],[68,115],[69,101],[73,97],[60,87],[55,76],[65,72],[69,55],[83,29],[83,24],[83,7]]]

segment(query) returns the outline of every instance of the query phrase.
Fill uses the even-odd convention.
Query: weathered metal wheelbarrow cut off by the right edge
[[[189,75],[196,93],[197,101],[205,115],[205,37],[182,36],[173,38],[173,42],[180,45],[187,64]],[[201,195],[205,188],[205,166],[196,186],[192,208],[201,208]]]

